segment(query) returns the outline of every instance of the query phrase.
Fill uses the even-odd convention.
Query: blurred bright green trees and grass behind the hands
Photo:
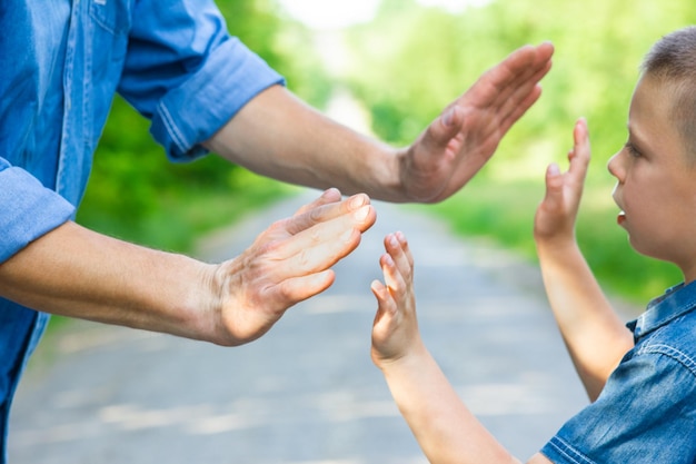
[[[484,170],[455,197],[418,208],[463,236],[489,237],[534,261],[531,225],[546,166],[566,166],[575,120],[587,118],[593,161],[578,224],[590,266],[612,293],[644,304],[676,284],[616,226],[608,158],[626,140],[638,66],[663,34],[696,20],[693,0],[218,0],[228,28],[290,90],[358,130],[410,144],[489,67],[525,43],[556,47],[544,95]],[[201,235],[296,188],[216,156],[171,164],[149,124],[116,99],[78,221],[188,253]],[[408,233],[408,231],[407,231]]]

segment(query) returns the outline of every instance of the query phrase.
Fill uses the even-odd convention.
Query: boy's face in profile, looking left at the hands
[[[645,76],[628,115],[628,140],[609,160],[618,180],[614,200],[618,224],[632,246],[679,266],[696,278],[696,168],[670,116],[669,86]]]

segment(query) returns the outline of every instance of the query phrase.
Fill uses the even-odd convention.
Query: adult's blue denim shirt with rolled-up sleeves
[[[3,0],[0,30],[0,264],[73,218],[116,91],[151,119],[172,160],[188,160],[253,96],[285,83],[227,33],[212,0]],[[47,319],[0,298],[0,463],[11,397]]]

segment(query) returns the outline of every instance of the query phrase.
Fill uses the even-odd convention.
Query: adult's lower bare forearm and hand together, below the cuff
[[[330,267],[375,219],[366,195],[341,200],[330,189],[220,265],[68,221],[0,264],[0,296],[47,313],[241,345],[331,285]]]

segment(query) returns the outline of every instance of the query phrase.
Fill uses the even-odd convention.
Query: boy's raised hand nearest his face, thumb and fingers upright
[[[561,174],[556,164],[551,164],[546,170],[546,196],[537,208],[534,220],[534,238],[537,245],[558,239],[575,239],[575,219],[590,156],[585,119],[576,122],[573,137],[575,144],[568,152],[568,171]]]

